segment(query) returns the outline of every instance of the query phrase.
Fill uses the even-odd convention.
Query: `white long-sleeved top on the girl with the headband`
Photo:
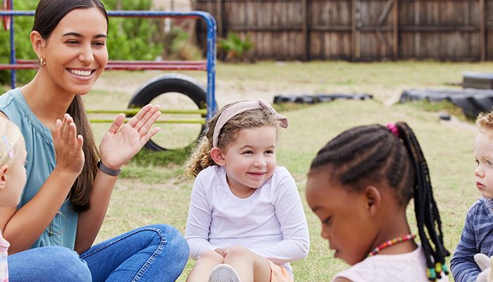
[[[209,166],[197,175],[187,219],[185,239],[190,257],[217,248],[243,246],[275,264],[308,255],[308,224],[294,179],[278,166],[256,191],[241,199],[226,182],[221,166]]]

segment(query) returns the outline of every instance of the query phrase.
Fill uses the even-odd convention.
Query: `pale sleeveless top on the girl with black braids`
[[[335,278],[344,277],[353,282],[426,282],[426,260],[423,248],[418,245],[416,250],[400,255],[374,255],[367,257],[349,267]],[[442,273],[439,282],[447,282],[449,278]]]

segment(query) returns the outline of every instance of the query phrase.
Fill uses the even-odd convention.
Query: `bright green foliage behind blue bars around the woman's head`
[[[102,0],[108,11],[116,9],[117,0]],[[35,10],[37,1],[14,1],[15,10]],[[151,0],[123,0],[124,10],[149,10]],[[18,16],[14,20],[15,51],[17,59],[37,59],[32,51],[30,32],[34,18]],[[1,27],[0,27],[1,28]],[[149,18],[110,18],[108,31],[108,54],[113,60],[154,60],[163,53],[162,44],[151,41],[158,32]],[[8,63],[10,58],[9,32],[0,29],[0,63]],[[0,71],[0,84],[10,84],[10,71]],[[35,71],[18,71],[17,81],[27,83]]]

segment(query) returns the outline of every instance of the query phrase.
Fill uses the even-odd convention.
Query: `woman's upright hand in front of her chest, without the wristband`
[[[77,135],[77,128],[69,114],[63,120],[56,120],[55,129],[51,131],[55,147],[56,169],[79,176],[84,166],[84,140]]]

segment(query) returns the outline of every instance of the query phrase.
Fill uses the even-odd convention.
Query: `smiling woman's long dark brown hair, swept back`
[[[44,39],[48,40],[56,25],[70,11],[77,8],[94,7],[99,8],[106,18],[106,23],[108,23],[106,9],[99,0],[41,0],[36,8],[35,23],[32,26],[32,30],[39,32]],[[84,137],[82,151],[85,154],[85,164],[69,195],[73,209],[77,212],[82,212],[89,209],[89,195],[97,173],[96,163],[99,159],[99,152],[94,142],[91,126],[87,120],[84,103],[79,95],[75,95],[72,103],[68,106],[67,113],[72,116],[78,134]]]

